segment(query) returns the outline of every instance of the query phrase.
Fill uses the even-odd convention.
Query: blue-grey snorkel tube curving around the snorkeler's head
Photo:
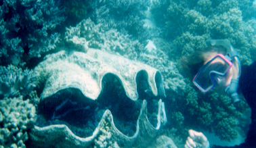
[[[240,66],[240,60],[238,58],[238,53],[234,49],[234,47],[226,40],[214,40],[214,39],[208,39],[206,41],[208,46],[223,46],[228,50],[228,56],[232,59],[232,64],[234,66],[233,70],[233,76],[232,80],[230,82],[230,85],[226,87],[225,91],[230,97],[232,98],[233,103],[238,103],[240,101],[237,89],[238,89],[238,82],[241,75],[241,66]]]

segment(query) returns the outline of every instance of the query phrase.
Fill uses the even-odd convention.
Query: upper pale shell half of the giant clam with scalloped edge
[[[85,97],[95,100],[102,91],[102,78],[111,73],[119,78],[127,97],[135,101],[138,98],[135,78],[141,71],[146,73],[152,94],[165,96],[162,76],[158,70],[98,49],[89,49],[87,53],[59,51],[47,55],[45,61],[35,68],[41,80],[46,80],[41,99],[62,89],[77,88]]]

